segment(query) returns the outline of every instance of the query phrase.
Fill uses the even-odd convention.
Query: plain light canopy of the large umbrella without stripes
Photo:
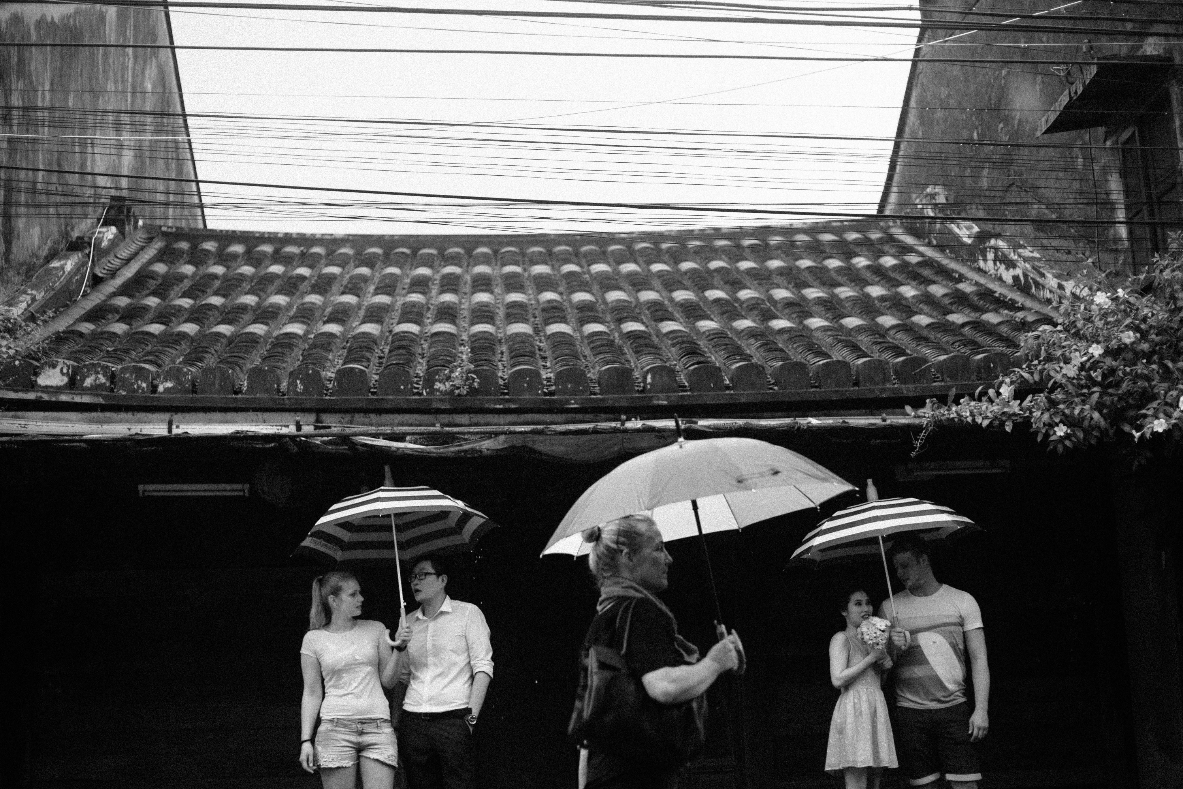
[[[765,441],[679,440],[622,463],[584,491],[542,552],[584,554],[583,530],[636,512],[649,515],[671,541],[741,529],[853,490],[826,467]]]

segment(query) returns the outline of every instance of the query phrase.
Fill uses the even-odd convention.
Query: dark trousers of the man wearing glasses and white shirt
[[[422,718],[403,711],[399,756],[408,789],[477,789],[472,732],[464,718]]]

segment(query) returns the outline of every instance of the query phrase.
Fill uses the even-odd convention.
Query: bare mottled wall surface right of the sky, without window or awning
[[[932,0],[922,0],[929,21],[974,20],[1000,22],[1002,18],[969,17],[936,12]],[[1013,0],[940,0],[942,8],[1014,12]],[[1062,2],[1039,0],[1024,4],[1035,13]],[[1183,60],[1178,43],[1163,43],[1156,32],[1166,25],[1088,22],[1058,19],[1064,14],[1129,15],[1183,19],[1183,5],[1114,6],[1086,0],[1024,24],[1048,24],[1055,34],[1021,31],[982,31],[959,35],[958,30],[922,33],[922,58],[1055,59],[1088,60],[1111,54],[1169,54]],[[1074,32],[1082,27],[1144,31],[1145,37],[1123,38]],[[952,40],[936,44],[956,35]],[[1066,44],[1071,46],[1066,46]],[[1079,69],[1071,72],[1079,75]],[[913,65],[911,85],[900,117],[893,173],[888,176],[883,208],[891,213],[914,213],[917,200],[939,201],[944,189],[951,207],[968,215],[1030,219],[1029,224],[997,224],[990,229],[1034,240],[1048,260],[1090,260],[1100,267],[1121,264],[1126,239],[1116,222],[1124,216],[1118,151],[1105,140],[1103,129],[1067,131],[1036,137],[1040,121],[1064,93],[1068,83],[1052,64],[949,64]],[[924,142],[918,142],[923,140]],[[944,144],[937,141],[944,141]],[[950,144],[958,143],[958,144]],[[997,144],[1002,143],[1002,144]],[[1008,147],[1013,144],[1014,147]],[[1033,147],[1043,145],[1043,147]],[[1055,145],[1055,147],[1049,147]],[[1045,220],[1045,221],[1040,221]],[[1047,221],[1053,220],[1053,221]],[[1080,225],[1054,220],[1080,221]],[[1092,222],[1106,222],[1094,227]]]

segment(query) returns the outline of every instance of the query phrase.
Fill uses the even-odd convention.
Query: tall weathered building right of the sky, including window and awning
[[[1181,7],[1047,0],[1008,20],[1001,0],[920,6],[932,26],[880,209],[950,216],[950,242],[1022,239],[997,254],[1061,280],[1165,251],[1183,228]]]

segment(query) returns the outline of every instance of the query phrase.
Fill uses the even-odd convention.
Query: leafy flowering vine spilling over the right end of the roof
[[[1059,325],[1024,338],[1022,367],[980,396],[930,400],[914,412],[925,427],[1023,423],[1056,452],[1127,442],[1136,463],[1153,446],[1183,446],[1183,234],[1121,287],[1077,292],[1058,308]]]

